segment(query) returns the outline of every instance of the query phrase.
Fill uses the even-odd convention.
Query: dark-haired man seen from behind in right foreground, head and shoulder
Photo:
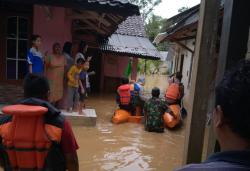
[[[178,171],[250,170],[250,61],[225,74],[215,91],[212,121],[221,152]]]

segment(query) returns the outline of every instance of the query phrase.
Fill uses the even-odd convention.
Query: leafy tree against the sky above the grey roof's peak
[[[159,5],[162,0],[129,0],[131,3],[138,5],[145,21],[149,14],[154,10],[154,7]]]

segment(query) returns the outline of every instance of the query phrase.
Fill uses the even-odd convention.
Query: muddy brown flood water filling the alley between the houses
[[[165,78],[153,77],[146,89],[167,86]],[[90,97],[87,107],[96,109],[98,119],[96,127],[73,128],[81,171],[170,171],[181,165],[184,128],[157,134],[145,132],[142,124],[114,125],[112,95]]]

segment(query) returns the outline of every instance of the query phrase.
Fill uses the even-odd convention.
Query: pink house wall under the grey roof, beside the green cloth
[[[102,56],[102,87],[104,92],[115,92],[124,77],[129,58],[126,56],[118,56],[116,54],[103,54]],[[136,80],[138,59],[133,58],[131,79]]]

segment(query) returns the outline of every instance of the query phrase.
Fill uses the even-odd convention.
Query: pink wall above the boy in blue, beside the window
[[[67,9],[51,7],[50,11],[51,17],[48,17],[44,7],[34,6],[33,33],[42,37],[42,52],[51,52],[55,42],[63,46],[65,41],[72,40],[72,20],[67,17]]]

